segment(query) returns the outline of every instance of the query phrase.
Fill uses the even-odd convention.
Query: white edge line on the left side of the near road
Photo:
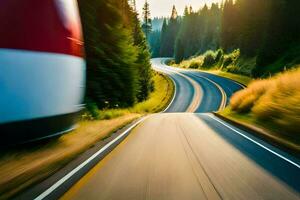
[[[74,174],[76,174],[79,170],[81,170],[83,167],[85,167],[88,163],[90,163],[94,158],[96,158],[98,155],[100,155],[102,152],[104,152],[106,149],[108,149],[112,144],[120,140],[125,134],[127,134],[129,131],[131,131],[134,127],[136,127],[139,123],[144,121],[147,117],[144,117],[134,123],[132,126],[130,126],[126,131],[124,131],[122,134],[120,134],[118,137],[116,137],[114,140],[107,143],[104,147],[102,147],[99,151],[97,151],[95,154],[93,154],[91,157],[89,157],[87,160],[85,160],[83,163],[78,165],[75,169],[73,169],[71,172],[69,172],[67,175],[65,175],[63,178],[58,180],[55,184],[53,184],[51,187],[49,187],[47,190],[45,190],[43,193],[41,193],[38,197],[35,198],[35,200],[42,200],[45,197],[47,197],[49,194],[51,194],[55,189],[60,187],[64,182],[66,182],[69,178],[71,178]]]

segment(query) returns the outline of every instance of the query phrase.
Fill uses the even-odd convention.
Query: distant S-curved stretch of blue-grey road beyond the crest
[[[193,111],[196,113],[206,113],[223,109],[229,103],[230,97],[236,91],[244,88],[240,83],[213,74],[169,67],[164,64],[168,59],[152,59],[153,68],[156,71],[168,74],[174,80],[178,91],[174,103],[171,104],[175,104],[176,107],[171,106],[166,112],[187,111],[185,106],[181,107],[180,105],[190,104],[198,100],[193,100],[192,97],[193,94],[197,94],[197,91],[199,91],[199,89],[197,90],[197,86],[201,87],[201,94],[199,95],[202,98],[197,108]],[[196,84],[192,84],[193,82],[196,82]]]

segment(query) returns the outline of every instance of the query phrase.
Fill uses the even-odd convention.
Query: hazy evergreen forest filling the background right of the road
[[[164,21],[159,44],[159,55],[174,55],[176,63],[222,48],[227,54],[240,49],[239,59],[218,52],[216,63],[208,56],[201,67],[262,77],[300,64],[299,0],[225,0],[197,12],[186,7],[177,18],[177,31]]]

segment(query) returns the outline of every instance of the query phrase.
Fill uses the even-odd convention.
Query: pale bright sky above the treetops
[[[172,6],[175,5],[179,15],[183,14],[184,7],[191,5],[194,10],[198,10],[205,3],[210,5],[221,0],[148,0],[150,4],[151,17],[161,17],[171,15]],[[136,0],[138,12],[142,13],[145,0]]]

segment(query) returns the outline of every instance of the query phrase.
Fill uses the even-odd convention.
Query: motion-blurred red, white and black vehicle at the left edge
[[[84,86],[77,1],[1,0],[0,141],[32,141],[72,129]]]

